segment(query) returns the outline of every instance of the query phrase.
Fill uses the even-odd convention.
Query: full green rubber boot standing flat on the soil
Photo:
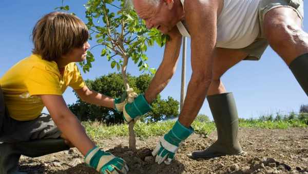
[[[243,153],[238,142],[238,114],[232,93],[207,96],[217,128],[217,141],[202,151],[194,151],[192,158],[214,158]]]

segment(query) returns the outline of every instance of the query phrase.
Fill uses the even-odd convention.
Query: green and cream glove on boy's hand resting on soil
[[[101,150],[97,146],[88,151],[85,156],[85,163],[103,174],[128,172],[126,162],[122,158],[115,157],[112,154]]]

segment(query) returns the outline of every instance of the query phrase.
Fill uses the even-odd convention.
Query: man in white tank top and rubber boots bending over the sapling
[[[193,158],[239,155],[238,116],[232,93],[220,77],[241,60],[259,60],[268,44],[290,67],[308,95],[308,35],[301,28],[302,0],[132,0],[146,26],[170,36],[162,63],[140,105],[126,104],[130,120],[137,110],[165,88],[175,72],[182,35],[191,38],[192,75],[183,110],[175,126],[158,143],[153,155],[170,163],[179,144],[191,133],[190,124],[207,97],[217,126],[218,140]],[[138,100],[135,100],[137,102]],[[146,102],[145,102],[146,101]]]

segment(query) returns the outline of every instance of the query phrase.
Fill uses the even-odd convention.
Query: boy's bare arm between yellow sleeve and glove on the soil
[[[77,117],[69,110],[62,96],[40,95],[52,120],[64,136],[85,156],[95,145]]]

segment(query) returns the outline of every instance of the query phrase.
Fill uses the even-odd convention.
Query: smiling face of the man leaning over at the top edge
[[[134,8],[140,18],[145,20],[148,29],[157,28],[162,33],[168,33],[177,23],[174,14],[163,0],[158,5],[152,5],[143,0],[133,0]]]

